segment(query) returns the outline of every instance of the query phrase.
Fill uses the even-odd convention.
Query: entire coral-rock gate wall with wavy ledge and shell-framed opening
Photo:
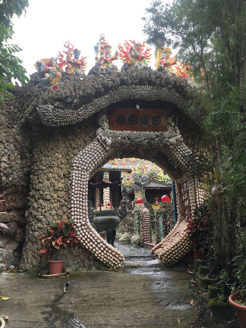
[[[184,220],[202,201],[193,178],[198,163],[193,160],[191,165],[189,158],[193,150],[206,155],[209,152],[206,142],[200,143],[203,132],[199,121],[187,111],[192,86],[186,79],[147,67],[112,70],[103,75],[65,73],[61,80],[64,88],[57,92],[37,84],[35,77],[25,87],[17,88],[16,98],[6,100],[0,108],[1,190],[8,200],[4,210],[20,210],[22,215],[26,210],[20,269],[46,266],[39,253],[42,242],[37,237],[50,221],[67,218],[74,219],[80,243],[60,250],[65,265],[104,263],[120,268],[124,264],[124,256],[96,233],[88,219],[88,181],[115,157],[151,160],[175,181],[179,221],[171,235],[176,236],[178,252],[182,242],[186,245],[182,252],[175,251],[175,256],[169,251],[168,263],[176,263],[190,245],[182,230]],[[168,109],[167,132],[111,131],[110,106],[135,107],[136,101],[140,108]],[[171,237],[166,238],[170,242]],[[6,243],[7,239],[2,239]],[[166,241],[160,247],[163,254],[156,249],[165,263]]]

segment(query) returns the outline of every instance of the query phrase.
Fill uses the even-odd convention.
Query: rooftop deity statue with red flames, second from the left
[[[82,74],[86,70],[87,63],[85,62],[86,57],[80,57],[80,50],[77,48],[74,49],[73,45],[68,42],[65,42],[64,47],[68,49],[68,51],[63,50],[63,52],[67,55],[66,59],[64,59],[64,55],[59,52],[59,64],[61,70],[64,70],[68,74]],[[79,58],[80,57],[80,58]]]

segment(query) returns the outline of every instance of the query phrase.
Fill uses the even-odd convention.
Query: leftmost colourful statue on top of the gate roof
[[[39,74],[43,76],[44,82],[50,86],[58,84],[61,79],[61,69],[57,65],[56,58],[45,58],[36,61],[34,64]]]

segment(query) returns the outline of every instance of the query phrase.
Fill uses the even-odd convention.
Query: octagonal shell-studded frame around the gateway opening
[[[96,230],[91,227],[88,219],[88,182],[93,174],[112,157],[120,157],[126,153],[126,149],[137,148],[141,154],[148,156],[157,162],[162,168],[166,169],[169,175],[176,181],[177,185],[188,181],[188,195],[186,198],[179,197],[178,223],[162,242],[153,249],[157,250],[158,257],[162,262],[174,264],[178,257],[173,254],[172,260],[166,258],[166,252],[171,248],[185,242],[182,256],[190,250],[191,241],[185,229],[187,222],[186,216],[181,213],[181,208],[190,208],[191,215],[194,209],[202,201],[201,196],[195,189],[195,179],[192,177],[191,168],[184,155],[191,154],[190,149],[183,144],[177,129],[165,133],[146,133],[146,132],[119,132],[104,131],[99,129],[97,137],[85,149],[81,150],[73,161],[72,188],[71,188],[71,218],[75,221],[78,229],[78,239],[93,255],[100,261],[112,268],[120,268],[124,264],[124,256],[112,245],[101,238]],[[172,137],[170,138],[170,133]],[[163,160],[165,156],[166,160]],[[162,159],[161,159],[162,158]],[[172,168],[172,169],[171,169]],[[180,191],[181,193],[181,191]],[[181,195],[179,195],[181,196]],[[183,204],[181,204],[183,202]],[[166,250],[168,248],[168,250]],[[175,253],[175,252],[174,252]]]

